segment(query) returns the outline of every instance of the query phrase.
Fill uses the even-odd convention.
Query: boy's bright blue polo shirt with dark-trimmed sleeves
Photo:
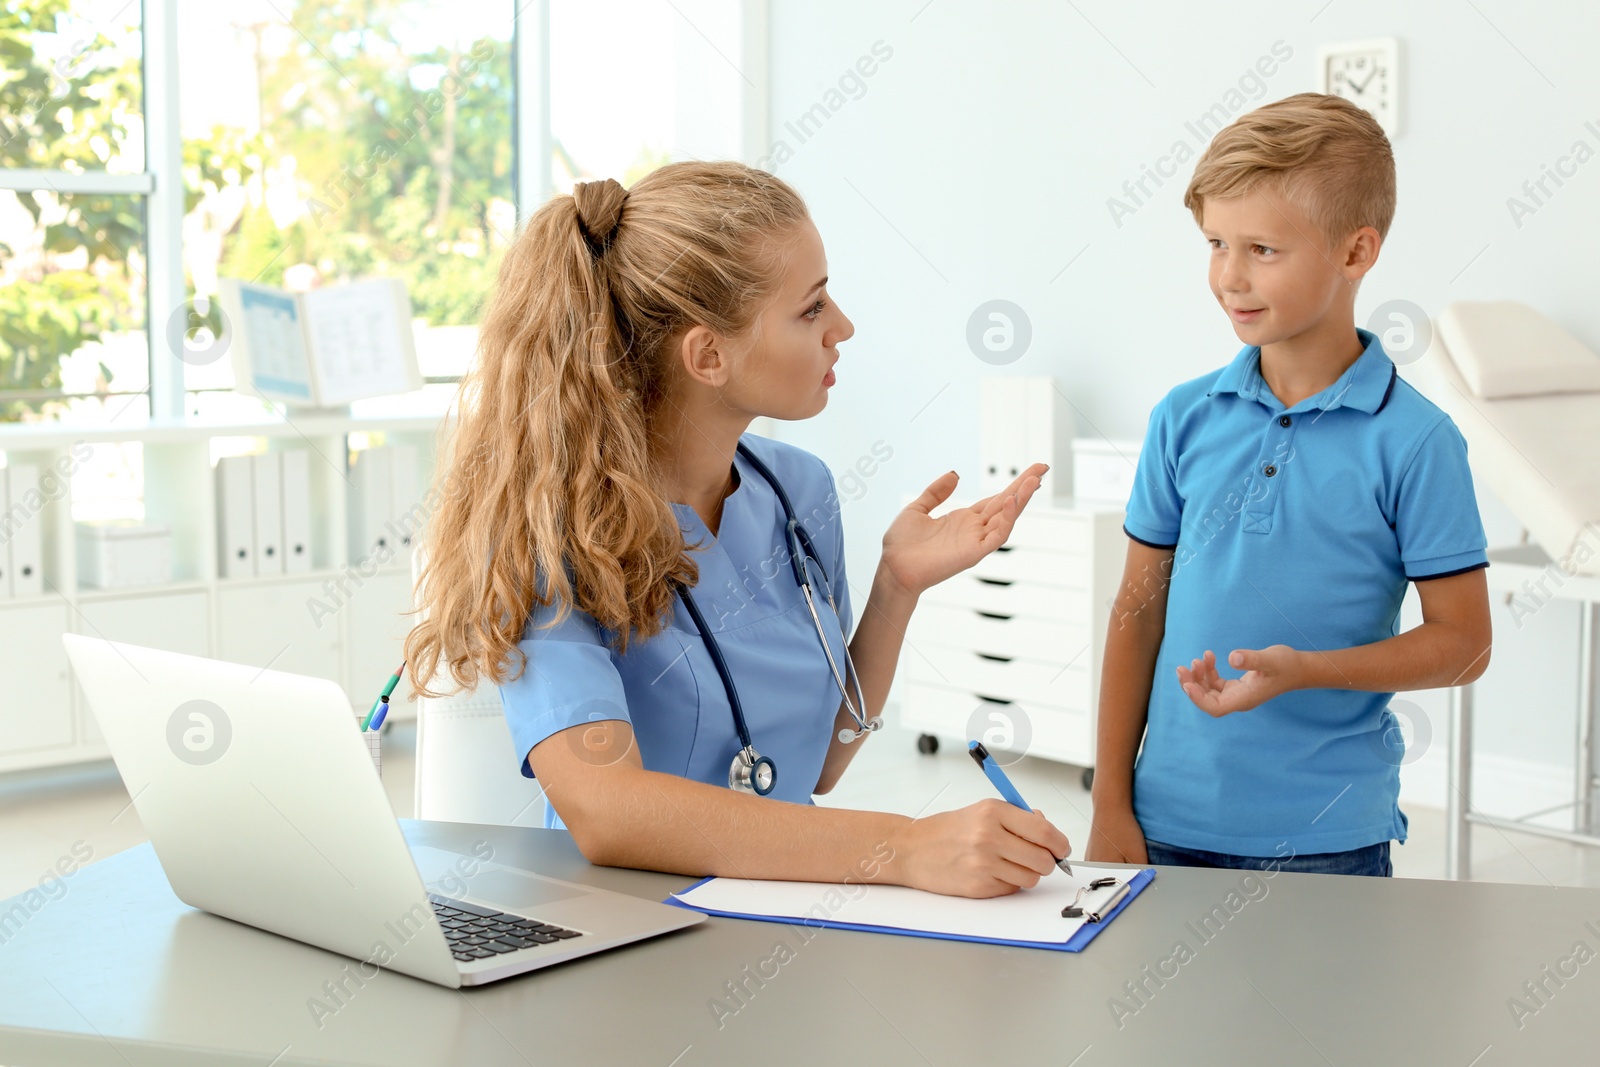
[[[1467,446],[1378,338],[1293,408],[1261,349],[1150,414],[1125,531],[1171,547],[1166,629],[1134,765],[1155,841],[1238,856],[1405,841],[1394,693],[1296,689],[1213,718],[1178,681],[1208,648],[1334,649],[1400,632],[1408,581],[1488,566]]]

